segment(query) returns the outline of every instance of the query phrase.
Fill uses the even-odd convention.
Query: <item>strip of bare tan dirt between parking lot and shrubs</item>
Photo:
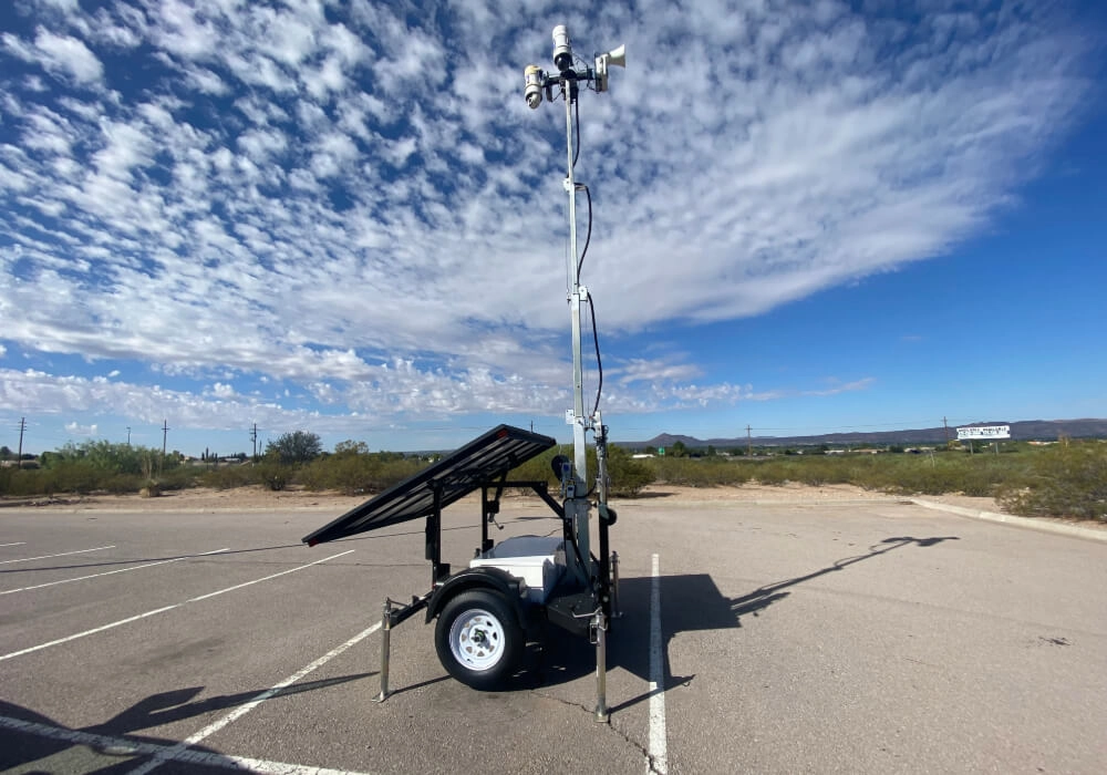
[[[313,493],[291,488],[280,493],[260,486],[235,489],[210,489],[195,487],[167,492],[158,497],[138,495],[59,495],[52,498],[2,498],[0,506],[41,507],[64,510],[113,512],[242,512],[266,509],[311,509],[341,514],[364,503],[370,496],[348,496],[333,492]],[[472,496],[470,496],[472,497]],[[505,497],[529,497],[508,493]],[[734,502],[734,503],[787,503],[787,502],[844,502],[844,500],[902,500],[901,496],[866,490],[852,485],[827,485],[813,487],[799,484],[766,486],[745,484],[741,487],[677,487],[651,485],[638,498],[620,499],[624,504],[650,502],[658,498],[684,502]],[[992,498],[975,498],[963,495],[925,496],[927,500],[975,508],[986,512],[1002,512]]]

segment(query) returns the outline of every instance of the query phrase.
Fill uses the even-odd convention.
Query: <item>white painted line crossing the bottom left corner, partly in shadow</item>
[[[87,745],[90,748],[100,751],[126,751],[133,752],[134,756],[162,756],[165,752],[176,748],[176,745],[158,745],[157,743],[139,743],[126,737],[111,737],[108,735],[97,735],[91,732],[79,732],[77,730],[66,730],[64,726],[53,726],[51,724],[40,724],[34,721],[23,721],[10,716],[0,716],[0,730],[11,730],[29,735],[38,735],[48,740],[58,740],[63,743],[74,745]],[[117,755],[117,754],[116,754]],[[165,761],[169,761],[166,756]],[[300,764],[284,764],[283,762],[267,762],[261,758],[246,758],[245,756],[229,756],[217,754],[210,751],[184,751],[173,756],[174,762],[184,764],[196,764],[207,767],[223,767],[237,772],[251,773],[273,773],[279,775],[364,775],[353,773],[349,769],[328,769],[325,767],[306,767]]]

